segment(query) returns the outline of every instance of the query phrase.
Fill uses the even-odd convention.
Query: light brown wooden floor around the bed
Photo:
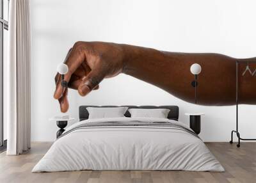
[[[18,156],[0,154],[0,182],[256,182],[256,143],[206,143],[224,166],[225,172],[195,171],[65,171],[31,173],[51,143],[33,143],[31,150]]]

